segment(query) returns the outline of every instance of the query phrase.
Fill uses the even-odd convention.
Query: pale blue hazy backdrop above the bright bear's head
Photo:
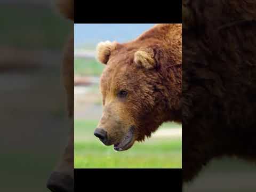
[[[94,49],[101,41],[127,42],[155,24],[75,24],[75,47]]]

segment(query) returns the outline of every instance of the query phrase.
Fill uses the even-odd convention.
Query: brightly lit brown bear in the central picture
[[[103,115],[94,135],[117,151],[167,121],[181,123],[182,25],[159,24],[128,43],[101,42]]]

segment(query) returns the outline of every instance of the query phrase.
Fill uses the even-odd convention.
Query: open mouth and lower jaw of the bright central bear
[[[114,145],[114,150],[123,151],[132,147],[134,143],[134,126],[131,126],[124,139]]]

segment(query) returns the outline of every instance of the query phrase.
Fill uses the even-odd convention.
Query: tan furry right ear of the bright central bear
[[[146,69],[153,69],[155,67],[154,50],[151,48],[140,49],[134,53],[134,62]]]

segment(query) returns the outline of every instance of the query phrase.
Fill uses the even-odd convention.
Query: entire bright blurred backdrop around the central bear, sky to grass
[[[154,24],[75,24],[75,168],[169,167],[181,168],[181,125],[164,123],[143,143],[117,153],[94,135],[102,115],[99,78],[105,67],[95,60],[101,41],[119,43],[137,38]]]

